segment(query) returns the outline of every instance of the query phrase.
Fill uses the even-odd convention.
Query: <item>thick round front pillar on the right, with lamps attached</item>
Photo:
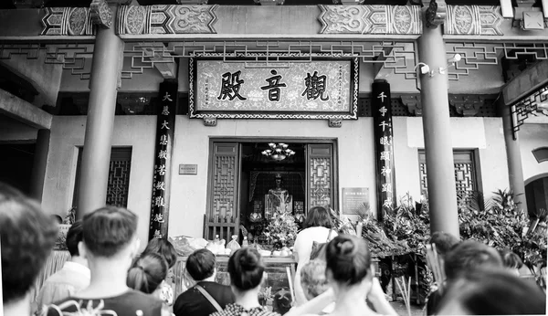
[[[441,27],[423,28],[418,38],[419,60],[433,74],[420,76],[423,129],[427,156],[430,231],[458,234],[457,191],[449,121],[448,76],[439,68],[448,64]]]

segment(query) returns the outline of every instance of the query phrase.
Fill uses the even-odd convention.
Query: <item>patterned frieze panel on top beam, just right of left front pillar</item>
[[[216,5],[128,5],[118,10],[118,34],[216,34]]]

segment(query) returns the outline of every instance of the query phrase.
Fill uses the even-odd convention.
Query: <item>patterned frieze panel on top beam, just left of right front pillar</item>
[[[418,5],[320,5],[321,34],[402,34],[422,32]]]

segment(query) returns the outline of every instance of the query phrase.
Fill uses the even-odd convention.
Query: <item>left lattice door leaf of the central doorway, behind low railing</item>
[[[215,237],[217,229],[222,231],[221,227],[237,234],[239,226],[238,172],[239,146],[237,142],[214,142],[209,209],[205,216],[205,237]]]

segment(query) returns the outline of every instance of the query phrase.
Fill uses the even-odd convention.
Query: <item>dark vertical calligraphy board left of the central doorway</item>
[[[164,80],[160,84],[158,98],[156,150],[154,151],[153,199],[149,239],[167,238],[169,221],[169,184],[174,144],[175,110],[177,105],[177,81]]]

